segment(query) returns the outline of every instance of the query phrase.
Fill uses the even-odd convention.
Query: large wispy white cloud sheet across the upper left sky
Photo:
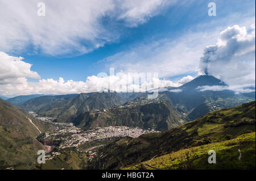
[[[118,39],[115,24],[138,26],[175,1],[43,2],[46,16],[37,15],[38,2],[33,0],[0,1],[0,50],[16,52],[32,47],[29,53],[53,56],[87,53]]]

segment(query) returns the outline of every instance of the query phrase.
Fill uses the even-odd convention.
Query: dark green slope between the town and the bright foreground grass
[[[255,102],[214,111],[180,127],[162,133],[125,137],[99,149],[92,163],[96,169],[118,169],[180,149],[226,141],[255,132]]]

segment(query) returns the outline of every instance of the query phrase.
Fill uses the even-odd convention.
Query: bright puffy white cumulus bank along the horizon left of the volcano
[[[89,76],[86,81],[64,81],[40,79],[31,64],[23,61],[23,57],[10,56],[0,52],[0,95],[29,94],[72,94],[96,91],[143,92],[158,87],[177,86],[170,80],[159,79],[155,74],[122,73],[113,75]],[[28,82],[27,78],[39,79]]]

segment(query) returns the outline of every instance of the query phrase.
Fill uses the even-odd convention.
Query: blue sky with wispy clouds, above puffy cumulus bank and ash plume
[[[121,3],[122,6],[118,4],[120,2],[113,1],[106,3],[111,8],[104,12],[92,6],[93,12],[99,11],[98,14],[94,12],[97,18],[90,15],[90,10],[84,9],[82,14],[78,11],[67,15],[68,20],[56,25],[55,30],[47,27],[41,31],[36,26],[43,29],[57,24],[53,20],[62,12],[58,9],[55,12],[57,3],[46,1],[46,17],[29,19],[29,10],[37,9],[31,2],[16,6],[16,13],[28,12],[16,19],[18,25],[14,25],[15,21],[7,23],[0,19],[5,29],[11,27],[10,35],[7,35],[9,38],[3,37],[7,30],[0,31],[0,40],[4,42],[0,51],[9,56],[23,57],[22,61],[31,64],[30,71],[38,73],[40,79],[59,80],[61,77],[64,81],[86,81],[92,75],[102,71],[109,73],[109,68],[115,68],[117,72],[125,73],[133,70],[158,71],[160,78],[170,78],[175,83],[187,75],[196,77],[199,74],[204,48],[215,45],[220,32],[228,26],[237,24],[245,26],[248,31],[251,24],[255,24],[255,1],[156,0],[152,5],[147,4],[149,1],[144,4],[134,1],[134,5]],[[216,3],[216,16],[208,15],[209,2]],[[9,14],[14,11],[11,3],[15,1],[10,1],[8,8],[7,2],[0,0],[0,3],[5,4],[5,9],[9,8]],[[71,5],[63,7],[68,9]],[[113,9],[115,5],[117,7]],[[119,9],[119,6],[123,8]],[[89,16],[86,21],[82,18],[84,15]],[[76,19],[75,22],[72,18]],[[15,17],[10,15],[10,19]],[[172,62],[170,71],[167,62]],[[39,81],[38,77],[22,76],[28,82]],[[3,90],[2,94],[11,92]]]

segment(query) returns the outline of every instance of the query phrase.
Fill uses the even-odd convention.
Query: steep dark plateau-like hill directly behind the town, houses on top
[[[109,126],[139,127],[166,131],[184,123],[168,100],[137,98],[123,106],[94,110],[78,115],[73,121],[84,128]]]

